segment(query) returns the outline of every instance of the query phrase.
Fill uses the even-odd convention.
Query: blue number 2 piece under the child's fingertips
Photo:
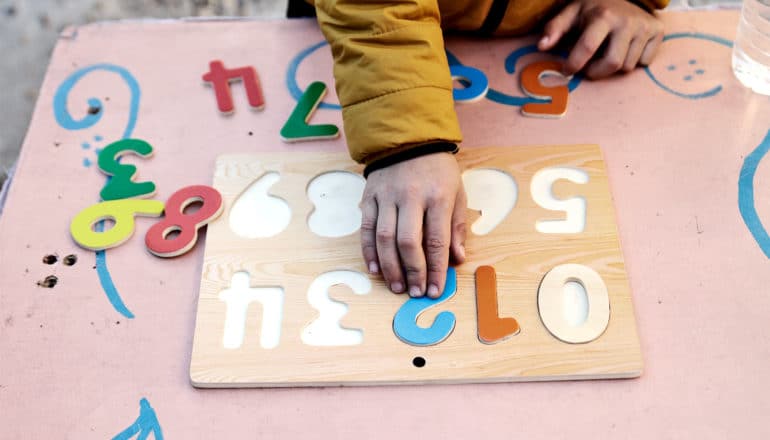
[[[430,307],[441,304],[457,293],[457,273],[453,267],[447,271],[446,286],[440,297],[431,299],[428,297],[411,298],[398,309],[393,317],[393,332],[398,339],[409,345],[425,347],[436,345],[452,334],[457,319],[454,313],[444,311],[436,316],[433,325],[420,327],[417,325],[417,317]]]

